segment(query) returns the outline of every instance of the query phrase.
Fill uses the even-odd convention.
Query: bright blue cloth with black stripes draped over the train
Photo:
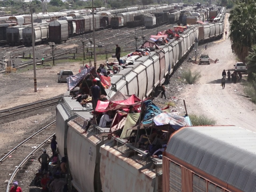
[[[143,118],[142,124],[152,124],[154,116],[163,113],[163,111],[158,108],[151,100],[145,101],[144,104],[146,105],[146,113]]]

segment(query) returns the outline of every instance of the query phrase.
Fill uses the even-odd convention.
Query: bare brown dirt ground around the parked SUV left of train
[[[111,61],[112,58],[109,59]],[[98,61],[98,65],[105,61]],[[47,63],[46,63],[47,64]],[[33,68],[21,68],[16,73],[0,74],[0,109],[11,108],[37,100],[58,96],[67,91],[66,83],[58,83],[57,73],[70,69],[77,74],[83,62],[61,63],[55,66],[37,67],[37,92],[34,92]]]

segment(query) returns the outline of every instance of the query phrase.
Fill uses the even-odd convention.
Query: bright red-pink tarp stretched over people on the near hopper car
[[[132,95],[127,100],[120,101],[98,101],[97,106],[95,108],[96,112],[103,113],[109,110],[117,110],[129,108],[130,106],[140,107],[140,99],[135,95]]]

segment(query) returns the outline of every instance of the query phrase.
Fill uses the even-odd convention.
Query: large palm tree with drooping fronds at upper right
[[[230,11],[230,40],[238,58],[245,62],[248,52],[256,44],[256,3],[255,0],[237,1]]]

